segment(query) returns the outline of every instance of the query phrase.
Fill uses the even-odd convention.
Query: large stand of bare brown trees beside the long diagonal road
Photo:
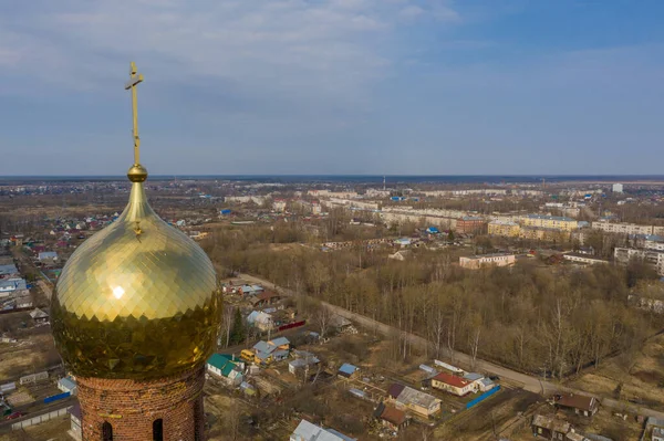
[[[640,262],[626,267],[547,265],[525,258],[513,267],[467,271],[449,249],[324,253],[274,246],[298,239],[293,225],[222,228],[204,248],[226,275],[246,272],[426,337],[429,356],[461,350],[521,371],[563,377],[620,355],[626,371],[662,321],[630,305],[637,283],[656,280]],[[400,339],[398,356],[412,353]]]

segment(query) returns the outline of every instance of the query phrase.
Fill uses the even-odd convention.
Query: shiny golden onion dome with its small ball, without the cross
[[[129,203],[72,254],[53,294],[53,336],[75,375],[162,377],[214,349],[221,304],[212,263],[152,210],[145,168],[128,176]]]

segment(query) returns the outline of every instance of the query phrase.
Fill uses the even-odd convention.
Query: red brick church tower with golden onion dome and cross
[[[212,263],[152,210],[139,162],[132,63],[129,202],[62,270],[52,300],[55,345],[76,377],[84,441],[205,439],[204,364],[219,328]]]

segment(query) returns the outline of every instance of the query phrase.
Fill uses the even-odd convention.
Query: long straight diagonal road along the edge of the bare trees
[[[278,291],[284,295],[294,295],[294,293],[290,290],[281,288],[279,286],[276,286],[273,283],[271,283],[269,281],[266,281],[266,280],[262,280],[262,279],[249,275],[249,274],[240,274],[240,279],[243,279],[247,282],[262,284],[263,286],[266,286],[270,290]],[[364,328],[375,329],[383,335],[394,335],[395,333],[401,334],[402,336],[404,335],[403,332],[401,332],[397,328],[392,327],[390,325],[385,325],[384,323],[380,323],[370,317],[366,317],[366,316],[363,316],[363,315],[360,315],[356,313],[352,313],[347,309],[344,309],[340,306],[331,305],[326,302],[321,302],[321,303],[323,306],[325,306],[333,313],[335,313],[344,318],[347,318],[350,321],[353,321],[353,322],[360,324]],[[406,336],[406,338],[408,338],[408,342],[415,346],[425,347],[425,346],[429,345],[429,342],[427,342],[425,338],[423,338],[418,335],[406,333],[405,336]],[[459,351],[454,353],[454,363],[459,363],[461,365],[470,366],[471,361],[473,361],[473,357],[470,357],[468,354],[464,354],[464,353],[459,353]],[[523,389],[529,390],[535,393],[550,396],[551,393],[557,392],[557,391],[566,391],[566,392],[574,392],[574,393],[579,393],[579,395],[585,395],[585,396],[593,396],[592,393],[585,392],[583,390],[571,389],[566,386],[562,386],[562,385],[559,385],[556,382],[551,382],[551,381],[542,381],[540,378],[537,378],[537,377],[533,377],[530,375],[526,375],[526,374],[521,374],[516,370],[496,365],[490,361],[477,359],[475,363],[475,366],[476,366],[475,369],[478,371],[485,371],[485,372],[488,372],[491,375],[497,375],[500,378],[507,379],[512,382],[520,384],[520,385],[522,385]],[[647,408],[640,407],[640,406],[632,405],[632,403],[624,402],[624,401],[618,401],[618,400],[614,400],[611,398],[602,398],[602,397],[598,397],[598,396],[594,396],[594,397],[598,398],[602,402],[603,406],[611,408],[611,409],[620,410],[621,412],[627,411],[630,413],[639,413],[639,414],[643,414],[646,417],[655,417],[655,418],[664,419],[664,412],[647,409]]]

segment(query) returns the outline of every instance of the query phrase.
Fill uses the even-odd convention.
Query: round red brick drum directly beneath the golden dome
[[[104,422],[113,441],[153,439],[153,422],[163,419],[164,441],[204,440],[200,366],[186,374],[149,381],[76,377],[83,440],[102,441]]]

